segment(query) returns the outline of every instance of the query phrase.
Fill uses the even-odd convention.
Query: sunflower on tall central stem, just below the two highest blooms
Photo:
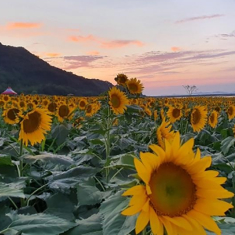
[[[115,114],[123,114],[126,110],[126,105],[129,104],[128,99],[124,92],[116,87],[109,90],[109,105]]]

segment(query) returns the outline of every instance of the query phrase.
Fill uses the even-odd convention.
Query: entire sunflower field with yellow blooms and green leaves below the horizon
[[[0,95],[0,234],[235,234],[235,97]]]

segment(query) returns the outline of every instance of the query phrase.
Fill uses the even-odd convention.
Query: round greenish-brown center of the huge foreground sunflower
[[[196,202],[196,186],[188,172],[173,163],[163,163],[150,180],[150,202],[158,215],[180,216]]]

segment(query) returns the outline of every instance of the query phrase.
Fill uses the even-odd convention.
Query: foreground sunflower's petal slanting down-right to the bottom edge
[[[191,210],[187,213],[191,218],[194,218],[198,223],[200,223],[206,229],[214,232],[217,235],[221,235],[221,231],[215,221],[208,215]]]

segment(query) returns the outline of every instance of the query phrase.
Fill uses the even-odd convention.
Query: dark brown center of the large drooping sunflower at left
[[[38,112],[33,112],[28,115],[28,119],[23,121],[23,129],[25,133],[33,133],[41,124],[41,115]]]

